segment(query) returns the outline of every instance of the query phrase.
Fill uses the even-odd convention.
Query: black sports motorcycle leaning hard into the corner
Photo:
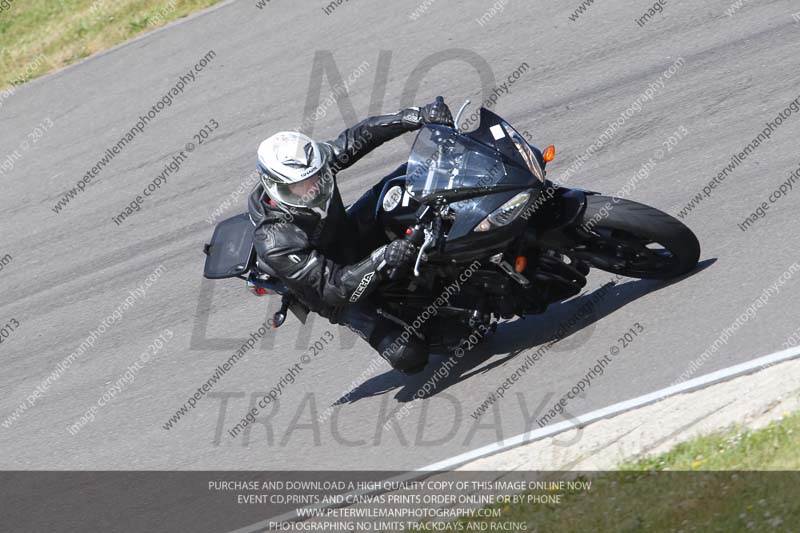
[[[391,275],[376,291],[381,314],[419,324],[434,302],[446,301],[425,315],[418,333],[432,347],[453,348],[470,332],[493,330],[498,319],[542,313],[578,294],[591,266],[669,279],[697,265],[700,245],[683,223],[643,204],[551,182],[546,166],[554,155],[552,146],[531,146],[485,108],[469,133],[423,127],[406,175],[386,183],[376,208],[389,240],[419,247],[413,277]],[[307,309],[258,269],[252,234],[246,214],[221,222],[205,248],[205,276],[239,277],[255,294],[281,294],[274,325],[287,310],[305,323]]]

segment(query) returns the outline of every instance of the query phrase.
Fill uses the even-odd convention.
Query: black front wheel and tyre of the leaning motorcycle
[[[631,278],[667,279],[692,270],[700,243],[692,230],[653,207],[587,196],[573,254],[596,268]]]

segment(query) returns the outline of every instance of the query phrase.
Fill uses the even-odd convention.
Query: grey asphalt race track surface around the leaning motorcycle
[[[21,154],[13,169],[0,174],[0,257],[13,257],[0,270],[0,325],[11,319],[20,324],[0,344],[0,422],[128,291],[159,265],[164,271],[33,407],[9,427],[0,425],[0,468],[418,468],[537,428],[533,419],[636,322],[644,333],[567,410],[587,412],[677,379],[799,259],[800,191],[770,205],[748,231],[737,228],[800,165],[798,114],[685,219],[703,247],[697,273],[672,284],[622,280],[584,328],[557,343],[477,422],[470,413],[533,348],[552,338],[580,299],[501,326],[428,398],[408,403],[439,357],[429,372],[411,379],[382,366],[324,422],[314,422],[374,358],[366,343],[333,327],[333,345],[286,388],[277,409],[267,409],[267,420],[232,438],[228,429],[254,398],[276,386],[331,328],[320,318],[301,328],[290,317],[214,384],[211,396],[170,430],[163,428],[258,329],[266,308],[275,310],[272,298],[252,297],[242,282],[204,281],[201,248],[213,230],[207,218],[254,168],[258,143],[297,126],[316,107],[315,56],[318,65],[335,65],[343,78],[368,63],[349,95],[313,123],[321,138],[369,112],[423,104],[438,94],[454,108],[468,97],[479,102],[527,63],[494,109],[528,130],[535,144],[556,145],[551,178],[680,61],[653,98],[568,181],[613,195],[664,150],[630,198],[673,215],[800,96],[800,24],[792,18],[797,6],[788,0],[745,3],[733,16],[725,14],[729,0],[670,2],[644,27],[635,22],[644,4],[597,2],[573,22],[568,16],[579,3],[510,0],[481,24],[477,19],[489,2],[454,7],[353,0],[326,14],[324,2],[273,0],[258,9],[255,0],[241,0],[19,88],[0,109],[0,160],[14,150]],[[424,16],[412,20],[423,5]],[[216,55],[196,81],[56,214],[53,205],[106,148],[210,50]],[[438,65],[424,72],[431,63]],[[385,84],[376,82],[382,78]],[[319,102],[332,90],[328,80]],[[140,212],[116,225],[112,217],[212,119],[219,127],[209,139]],[[41,138],[28,137],[45,121],[53,126]],[[674,147],[664,145],[676,131],[688,134]],[[407,137],[340,174],[346,201],[403,162]],[[21,148],[26,140],[31,144]],[[244,209],[242,195],[225,216]],[[611,278],[594,271],[590,292]],[[797,278],[770,294],[695,375],[780,350],[798,326]],[[174,338],[72,435],[69,426],[165,328]],[[413,408],[385,429],[404,405]]]

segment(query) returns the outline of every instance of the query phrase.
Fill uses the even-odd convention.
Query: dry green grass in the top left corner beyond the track
[[[7,0],[0,89],[106,50],[221,0]]]

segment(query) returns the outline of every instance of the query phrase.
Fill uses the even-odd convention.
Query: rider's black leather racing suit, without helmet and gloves
[[[416,108],[367,118],[335,140],[320,143],[328,152],[334,189],[326,218],[305,210],[285,212],[265,194],[261,184],[250,194],[248,209],[256,225],[259,267],[279,278],[311,311],[359,333],[392,367],[407,373],[421,370],[427,347],[415,335],[399,345],[403,328],[379,316],[370,299],[380,282],[376,249],[387,243],[375,224],[374,212],[383,184],[405,173],[405,165],[378,182],[345,210],[336,172],[361,159],[384,142],[417,130]]]

